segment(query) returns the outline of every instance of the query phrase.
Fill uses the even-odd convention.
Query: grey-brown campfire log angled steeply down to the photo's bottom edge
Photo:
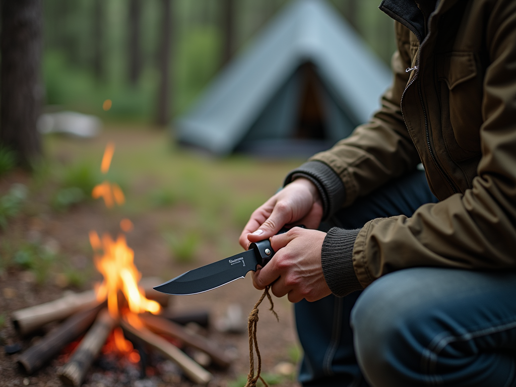
[[[109,315],[107,309],[99,313],[93,326],[73,352],[71,359],[59,368],[57,375],[63,384],[74,387],[83,384],[91,363],[99,354],[116,323],[117,320]]]

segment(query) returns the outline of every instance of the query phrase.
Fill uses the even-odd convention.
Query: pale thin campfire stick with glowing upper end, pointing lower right
[[[120,325],[124,330],[135,335],[140,340],[177,363],[191,381],[198,384],[207,384],[212,379],[212,374],[186,356],[180,349],[144,327],[138,316],[128,313],[121,319]]]

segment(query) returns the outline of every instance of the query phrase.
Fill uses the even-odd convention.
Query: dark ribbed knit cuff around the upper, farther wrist
[[[288,173],[283,186],[300,177],[309,179],[317,187],[324,209],[323,221],[342,207],[346,200],[346,190],[342,180],[328,165],[319,161],[304,163]]]

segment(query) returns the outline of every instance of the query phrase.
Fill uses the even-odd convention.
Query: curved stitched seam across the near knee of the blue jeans
[[[471,340],[472,338],[477,338],[481,336],[486,336],[488,334],[493,333],[499,333],[503,332],[505,330],[514,329],[516,328],[516,321],[507,322],[503,325],[498,325],[496,327],[489,327],[489,328],[483,328],[478,331],[473,332],[467,332],[463,333],[461,335],[453,335],[453,334],[447,334],[444,337],[441,337],[437,342],[436,338],[440,335],[448,332],[442,332],[439,335],[436,335],[434,337],[434,340],[430,342],[430,344],[425,348],[422,354],[422,361],[421,361],[421,368],[422,373],[427,374],[427,381],[430,384],[442,384],[443,380],[440,376],[437,375],[437,358],[438,354],[450,343],[452,342],[458,342],[458,341],[466,341]],[[435,343],[432,345],[432,343]],[[426,372],[425,369],[426,368]]]

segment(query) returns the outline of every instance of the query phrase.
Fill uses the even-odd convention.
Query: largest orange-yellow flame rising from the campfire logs
[[[97,243],[100,241],[96,232],[90,232],[90,242],[94,250],[99,250]],[[104,234],[102,236],[102,252],[94,256],[95,267],[104,276],[104,281],[96,289],[97,298],[107,298],[107,308],[112,317],[118,316],[118,292],[122,291],[129,309],[134,313],[151,312],[158,313],[161,307],[156,301],[147,299],[138,288],[141,278],[140,272],[134,265],[134,251],[127,247],[125,236],[119,235],[117,240]]]

